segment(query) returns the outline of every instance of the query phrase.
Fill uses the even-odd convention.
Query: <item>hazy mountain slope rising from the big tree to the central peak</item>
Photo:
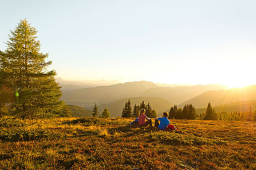
[[[128,82],[111,86],[98,86],[63,92],[64,100],[97,100],[101,103],[111,103],[117,100],[138,96],[148,88],[158,87],[152,82]]]

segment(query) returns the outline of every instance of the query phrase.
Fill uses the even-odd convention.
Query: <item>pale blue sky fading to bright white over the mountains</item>
[[[256,84],[254,0],[0,2],[0,50],[26,18],[62,79]]]

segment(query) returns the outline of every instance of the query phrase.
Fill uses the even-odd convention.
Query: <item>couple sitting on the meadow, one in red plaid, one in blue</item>
[[[160,130],[165,130],[170,121],[168,120],[168,112],[163,112],[163,117],[157,117],[155,118],[155,127],[160,129]],[[145,122],[145,119],[146,122]],[[160,121],[160,124],[159,122]],[[138,122],[139,125],[150,125],[152,126],[152,119],[151,118],[148,118],[146,115],[145,115],[145,109],[141,109],[139,111],[139,122]]]

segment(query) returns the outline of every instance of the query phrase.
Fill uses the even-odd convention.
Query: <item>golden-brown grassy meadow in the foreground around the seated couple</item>
[[[0,169],[256,169],[256,122],[0,118]],[[153,120],[154,123],[154,120]]]

